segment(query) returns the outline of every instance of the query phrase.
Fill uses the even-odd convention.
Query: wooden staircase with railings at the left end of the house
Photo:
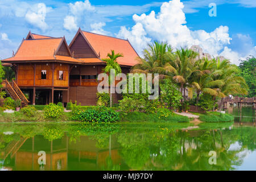
[[[9,82],[7,79],[4,81],[6,91],[9,93],[13,100],[20,100],[22,103],[21,107],[26,107],[29,103],[26,96],[24,96],[23,92],[19,89],[19,86],[13,80],[13,82]]]

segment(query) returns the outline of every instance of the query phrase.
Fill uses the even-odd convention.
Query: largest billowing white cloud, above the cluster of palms
[[[232,50],[228,49],[232,38],[229,36],[227,26],[217,27],[212,32],[205,30],[192,31],[185,25],[184,5],[180,0],[164,2],[160,7],[160,12],[155,14],[133,15],[135,25],[131,30],[121,27],[117,36],[119,38],[129,39],[134,47],[141,53],[142,49],[151,40],[160,42],[167,41],[172,47],[191,47],[199,45],[204,52],[217,56],[220,52],[222,55],[229,56],[233,63],[237,63],[239,53],[232,55]]]

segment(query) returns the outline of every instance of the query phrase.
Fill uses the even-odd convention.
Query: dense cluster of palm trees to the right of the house
[[[181,48],[175,52],[168,46],[167,42],[149,44],[144,49],[144,56],[141,63],[134,65],[132,73],[158,73],[164,84],[160,86],[160,97],[169,107],[177,108],[180,105],[180,94],[175,92],[174,84],[179,86],[183,99],[181,109],[188,108],[187,101],[196,95],[197,105],[208,108],[205,104],[199,104],[200,96],[207,94],[215,103],[223,97],[232,95],[246,95],[247,85],[245,79],[238,75],[240,72],[236,65],[229,60],[219,58],[208,60],[197,58],[197,53],[191,49]],[[255,70],[255,68],[253,68]],[[255,71],[254,71],[255,72]],[[171,78],[171,81],[168,81]],[[170,93],[168,93],[170,90]],[[172,96],[172,93],[175,94]],[[188,94],[185,94],[188,92]],[[163,96],[162,96],[163,93]],[[167,97],[165,97],[168,95]],[[172,101],[173,100],[173,101]]]

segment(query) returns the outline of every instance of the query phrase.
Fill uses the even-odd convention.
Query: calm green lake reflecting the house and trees
[[[0,169],[256,170],[255,113],[228,112],[235,122],[198,126],[0,123]]]

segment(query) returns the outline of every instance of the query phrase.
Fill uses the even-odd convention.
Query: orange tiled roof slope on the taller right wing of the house
[[[139,57],[139,55],[128,40],[94,34],[86,31],[82,31],[82,33],[96,53],[100,52],[101,59],[105,59],[108,53],[110,53],[111,50],[114,50],[115,53],[123,53],[123,57],[119,57],[117,60],[120,65],[133,66],[138,64],[137,57]]]

